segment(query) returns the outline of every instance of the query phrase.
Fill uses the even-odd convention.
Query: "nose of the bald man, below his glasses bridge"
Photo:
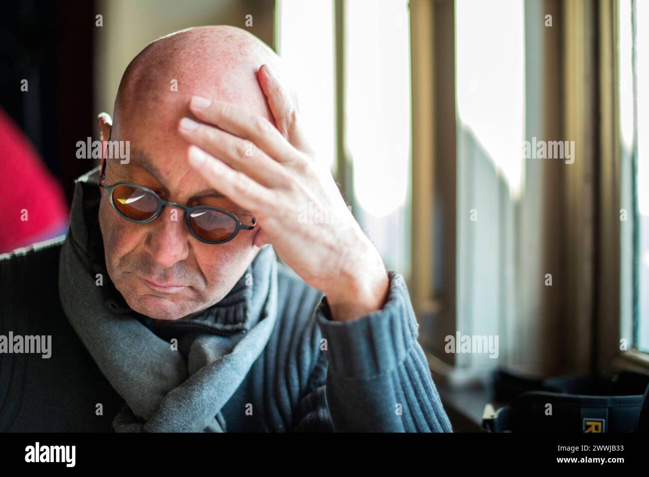
[[[183,214],[181,209],[164,207],[160,216],[149,224],[151,229],[147,237],[147,251],[161,266],[170,267],[189,255],[190,231]]]

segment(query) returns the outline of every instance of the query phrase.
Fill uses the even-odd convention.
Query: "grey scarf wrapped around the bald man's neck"
[[[117,432],[225,432],[221,408],[275,325],[275,251],[272,246],[260,250],[227,296],[191,320],[169,323],[164,339],[108,277],[97,176],[95,169],[77,180],[60,255],[59,292],[72,327],[126,401],[113,426]],[[96,285],[97,273],[102,286]],[[178,351],[171,338],[177,338]]]

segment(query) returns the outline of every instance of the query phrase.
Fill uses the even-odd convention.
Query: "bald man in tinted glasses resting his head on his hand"
[[[451,430],[271,49],[156,40],[99,128],[65,240],[0,260],[0,430]]]

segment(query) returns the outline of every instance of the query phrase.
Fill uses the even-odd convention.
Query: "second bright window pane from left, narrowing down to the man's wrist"
[[[410,264],[410,19],[408,0],[345,2],[346,132],[353,210],[386,265]]]

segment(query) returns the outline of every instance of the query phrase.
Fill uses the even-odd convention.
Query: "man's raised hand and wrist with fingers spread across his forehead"
[[[267,65],[258,71],[277,128],[238,106],[193,97],[178,130],[189,163],[210,185],[251,211],[254,244],[273,244],[309,285],[325,292],[334,320],[383,307],[383,261],[350,213],[331,172],[315,160],[288,90]]]

